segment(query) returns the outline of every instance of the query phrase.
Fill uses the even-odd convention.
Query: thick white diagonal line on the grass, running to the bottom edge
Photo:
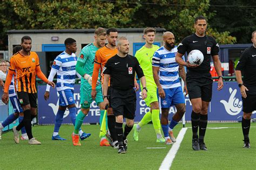
[[[170,169],[170,167],[172,166],[172,161],[175,158],[175,156],[179,150],[181,141],[183,140],[183,138],[185,136],[186,130],[187,130],[187,128],[182,128],[179,131],[178,137],[176,139],[176,143],[174,143],[172,145],[170,151],[167,153],[167,155],[166,155],[165,159],[163,160],[163,162],[161,163],[161,166],[159,169],[161,169],[161,170],[162,169]]]

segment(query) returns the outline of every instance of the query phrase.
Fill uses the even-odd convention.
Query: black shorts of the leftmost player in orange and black
[[[37,93],[17,91],[17,96],[22,107],[30,104],[31,108],[37,108]]]

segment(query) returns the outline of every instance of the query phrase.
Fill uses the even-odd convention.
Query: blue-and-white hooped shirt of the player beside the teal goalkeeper
[[[57,70],[57,91],[74,89],[76,80],[76,54],[67,54],[65,51],[59,54],[53,61],[52,69]]]

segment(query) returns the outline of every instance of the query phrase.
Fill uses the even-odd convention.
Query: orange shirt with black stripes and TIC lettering
[[[30,52],[29,56],[16,53],[10,60],[9,69],[16,70],[17,91],[36,93],[36,66],[39,66],[39,59],[36,52]]]

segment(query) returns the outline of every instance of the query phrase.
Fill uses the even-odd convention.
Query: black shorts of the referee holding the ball
[[[210,73],[188,71],[186,74],[186,85],[190,100],[193,98],[201,98],[202,101],[211,102],[212,82]]]

